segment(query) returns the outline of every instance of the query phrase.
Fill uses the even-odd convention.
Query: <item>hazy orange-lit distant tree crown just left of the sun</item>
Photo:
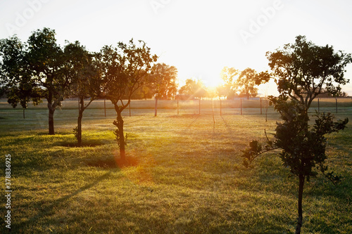
[[[153,87],[158,99],[170,100],[175,98],[177,93],[177,68],[157,63],[153,66]]]

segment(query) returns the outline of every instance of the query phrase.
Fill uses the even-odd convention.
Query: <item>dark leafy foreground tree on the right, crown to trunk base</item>
[[[346,84],[344,67],[352,62],[351,55],[342,51],[334,52],[332,46],[316,46],[306,37],[296,37],[295,44],[287,44],[283,50],[267,53],[270,68],[276,77],[278,97],[270,97],[282,122],[277,123],[275,140],[264,147],[258,141],[251,141],[243,150],[244,164],[249,165],[258,155],[281,149],[279,154],[284,167],[298,178],[298,222],[296,233],[301,233],[303,224],[303,188],[321,171],[330,181],[339,181],[325,166],[326,134],[343,130],[348,119],[333,122],[333,115],[316,115],[315,124],[308,124],[308,108],[313,99],[323,89],[338,93],[340,84]]]

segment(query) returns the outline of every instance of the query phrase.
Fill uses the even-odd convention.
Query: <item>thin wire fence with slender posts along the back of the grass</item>
[[[37,106],[28,105],[29,109],[46,109],[46,103]],[[67,99],[62,103],[63,110],[77,109],[77,99]],[[0,100],[0,109],[11,109],[6,99]],[[22,109],[18,106],[16,109]],[[106,117],[106,110],[114,109],[109,100],[95,100],[88,109],[101,109]],[[139,111],[137,111],[139,110]],[[168,110],[175,115],[265,115],[274,112],[267,98],[238,98],[235,100],[132,100],[130,106],[124,110],[124,115],[133,113],[153,112],[158,115],[158,110]],[[310,106],[311,112],[344,112],[352,110],[352,98],[316,98]],[[133,113],[132,113],[133,112]],[[24,113],[24,112],[23,112]]]

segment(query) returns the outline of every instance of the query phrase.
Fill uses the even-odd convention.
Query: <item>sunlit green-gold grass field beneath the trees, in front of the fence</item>
[[[351,106],[350,106],[351,107]],[[334,108],[330,108],[334,112]],[[338,118],[352,120],[351,108]],[[218,110],[216,110],[218,111]],[[297,181],[275,154],[246,169],[240,150],[273,133],[278,115],[224,115],[197,110],[125,112],[130,167],[114,157],[114,112],[84,112],[76,148],[77,110],[56,110],[56,135],[47,135],[44,108],[0,108],[1,181],[11,154],[13,233],[294,233]],[[352,233],[352,124],[329,136],[329,165],[343,176],[333,186],[319,175],[306,183],[303,233]],[[4,183],[4,182],[3,182]],[[0,215],[4,219],[5,189]],[[1,219],[2,233],[7,231]]]

